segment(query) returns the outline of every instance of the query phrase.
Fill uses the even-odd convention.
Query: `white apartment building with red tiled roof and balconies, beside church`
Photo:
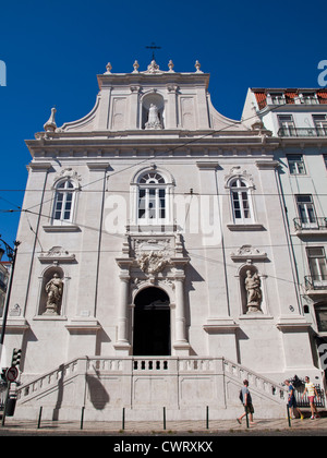
[[[314,355],[327,342],[327,91],[249,89],[243,117],[255,112],[280,140],[282,206],[294,260],[301,313],[312,323]],[[326,359],[326,358],[325,358]]]

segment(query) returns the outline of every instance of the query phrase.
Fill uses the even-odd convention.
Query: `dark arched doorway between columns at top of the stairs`
[[[170,306],[168,294],[149,287],[135,297],[133,354],[170,355]]]

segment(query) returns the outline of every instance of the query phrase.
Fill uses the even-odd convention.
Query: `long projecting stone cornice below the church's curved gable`
[[[161,131],[162,132],[162,131]],[[134,132],[135,133],[135,132]],[[185,134],[185,132],[184,132]],[[244,132],[242,135],[221,135],[213,134],[190,136],[172,136],[169,133],[158,136],[128,136],[121,133],[118,136],[111,136],[110,132],[107,135],[95,135],[89,137],[81,136],[57,136],[47,141],[31,140],[26,141],[28,149],[33,157],[47,157],[50,156],[66,156],[71,158],[85,158],[92,156],[94,162],[98,158],[104,157],[119,157],[121,154],[124,158],[144,157],[161,155],[162,157],[192,157],[213,159],[213,157],[228,157],[238,155],[244,150],[249,156],[253,155],[252,149],[255,152],[257,159],[259,154],[272,152],[279,146],[278,138],[267,138],[263,145],[262,138],[257,135],[249,135]],[[135,147],[137,144],[137,147]],[[259,152],[258,152],[259,150]],[[226,154],[227,153],[227,154]]]

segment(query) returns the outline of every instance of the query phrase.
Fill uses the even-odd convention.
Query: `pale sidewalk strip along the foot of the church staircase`
[[[311,420],[295,419],[291,420],[291,427],[287,419],[276,420],[255,420],[254,425],[246,426],[246,420],[243,419],[240,425],[237,419],[233,420],[211,420],[206,424],[206,421],[167,421],[166,429],[164,422],[131,422],[126,421],[124,425],[122,422],[84,422],[83,430],[81,430],[80,422],[73,421],[47,421],[40,422],[38,427],[37,420],[35,421],[17,421],[14,418],[7,418],[5,425],[0,426],[0,435],[24,434],[33,435],[223,435],[223,434],[269,434],[276,432],[284,432],[287,435],[292,433],[314,435],[319,432],[319,435],[327,435],[327,418],[318,418]]]

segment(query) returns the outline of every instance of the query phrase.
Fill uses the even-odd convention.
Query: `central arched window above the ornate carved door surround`
[[[138,179],[138,224],[162,224],[167,218],[166,181],[157,171],[147,171]]]

